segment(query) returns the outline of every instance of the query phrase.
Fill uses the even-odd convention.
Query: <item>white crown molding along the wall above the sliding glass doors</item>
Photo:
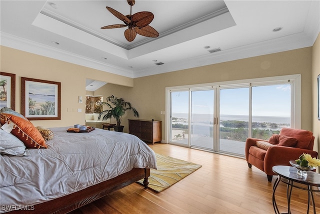
[[[133,78],[309,47],[312,46],[313,43],[314,40],[311,36],[300,32],[281,38],[208,53],[207,55],[196,56],[162,65],[154,65],[153,67],[135,71]]]

